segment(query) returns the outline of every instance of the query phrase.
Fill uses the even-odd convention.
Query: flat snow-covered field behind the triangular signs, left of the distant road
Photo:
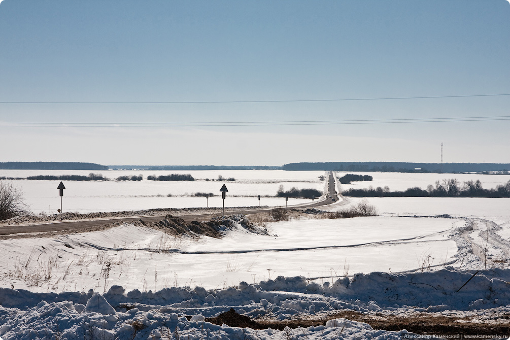
[[[282,170],[230,170],[230,171],[81,171],[81,170],[0,170],[0,177],[21,177],[36,175],[82,175],[102,174],[110,181],[64,181],[64,212],[92,213],[144,210],[150,208],[221,207],[220,188],[228,189],[225,206],[269,205],[284,206],[284,198],[275,196],[280,185],[285,190],[312,188],[324,190],[325,181],[319,180],[323,171],[282,171]],[[191,174],[195,181],[154,181],[147,176],[169,175],[172,173]],[[119,176],[143,176],[142,181],[115,181]],[[218,181],[218,176],[235,178],[234,181]],[[206,180],[209,179],[209,180]],[[214,180],[213,180],[214,179]],[[21,188],[25,201],[33,213],[55,214],[60,208],[57,187],[59,180],[12,180]],[[213,193],[206,199],[195,197],[194,193]],[[170,197],[168,195],[171,195]],[[261,196],[259,202],[258,196]],[[289,198],[288,204],[308,203],[309,200]]]

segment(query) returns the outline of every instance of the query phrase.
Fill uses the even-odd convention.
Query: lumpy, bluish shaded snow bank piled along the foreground
[[[277,330],[252,330],[217,326],[204,318],[215,317],[235,306],[252,319],[288,320],[316,313],[354,310],[362,313],[441,312],[492,308],[510,310],[510,270],[474,272],[441,270],[412,274],[356,274],[322,286],[304,277],[275,280],[220,290],[172,287],[153,293],[125,293],[112,286],[108,293],[31,293],[0,289],[0,335],[4,340],[52,338],[146,339],[164,334],[186,333],[190,339],[231,339],[249,334],[261,339],[296,337],[309,339],[354,336],[400,338],[402,332],[374,331],[369,325],[345,319],[326,326]],[[474,277],[473,277],[474,275]],[[460,292],[457,290],[470,278]],[[185,316],[193,316],[190,321]],[[343,332],[340,332],[343,329]],[[328,335],[327,337],[323,337]],[[175,335],[173,335],[175,337]],[[171,337],[170,337],[171,338]]]

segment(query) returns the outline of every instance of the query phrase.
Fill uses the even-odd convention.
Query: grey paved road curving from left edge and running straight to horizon
[[[335,201],[338,201],[338,194],[335,186],[335,176],[333,175],[333,171],[329,172],[329,182],[328,182],[328,193],[326,198],[322,201],[299,205],[300,208],[308,208],[308,207],[316,207],[326,204],[331,204]],[[292,206],[289,206],[292,208]],[[264,209],[252,209],[252,210],[232,210],[229,211],[228,208],[225,209],[225,215],[230,214],[243,214],[243,215],[253,215],[257,213],[267,212],[269,208]],[[53,232],[53,231],[64,231],[64,230],[73,230],[78,231],[80,229],[88,229],[99,227],[103,225],[112,224],[115,222],[119,223],[132,223],[139,221],[142,219],[144,222],[159,222],[166,215],[157,215],[157,216],[136,216],[136,217],[122,217],[122,218],[110,218],[110,219],[93,219],[93,220],[74,220],[74,221],[66,221],[66,222],[51,222],[37,225],[25,225],[25,226],[6,226],[0,227],[0,235],[11,235],[18,233],[37,233],[37,232]],[[186,222],[195,221],[204,221],[209,220],[211,217],[221,216],[221,212],[216,213],[207,213],[207,214],[199,214],[199,215],[184,215],[179,216],[183,218]]]

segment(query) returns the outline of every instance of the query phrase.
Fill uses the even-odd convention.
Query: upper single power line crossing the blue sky
[[[0,104],[227,104],[227,103],[270,103],[270,102],[315,102],[315,101],[363,101],[401,100],[510,96],[510,93],[471,94],[457,96],[379,97],[379,98],[338,98],[338,99],[285,99],[285,100],[218,100],[218,101],[0,101]]]

